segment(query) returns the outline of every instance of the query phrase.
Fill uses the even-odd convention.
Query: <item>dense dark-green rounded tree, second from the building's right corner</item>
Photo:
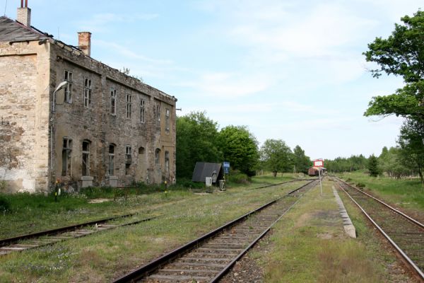
[[[231,167],[247,175],[254,175],[259,161],[258,141],[247,127],[228,126],[220,130],[220,149]]]

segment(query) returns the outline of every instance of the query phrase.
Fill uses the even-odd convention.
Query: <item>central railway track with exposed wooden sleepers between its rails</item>
[[[218,282],[293,205],[317,185],[302,185],[204,236],[139,267],[121,282]]]

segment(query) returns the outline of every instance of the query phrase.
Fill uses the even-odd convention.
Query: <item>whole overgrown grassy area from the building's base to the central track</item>
[[[278,176],[271,180],[281,182],[286,178],[288,177]],[[267,183],[268,176],[265,179]],[[142,224],[2,257],[0,282],[111,282],[122,276],[125,270],[140,265],[140,262],[157,258],[165,251],[187,243],[300,185],[289,183],[253,190],[259,184],[264,182],[258,177],[250,185],[240,185],[220,193],[205,195],[194,194],[187,189],[171,190],[167,197],[164,192],[152,192],[129,197],[127,200],[99,204],[88,204],[85,197],[80,197],[84,202],[83,206],[73,207],[68,211],[54,208],[63,204],[63,199],[54,203],[50,198],[46,204],[48,214],[45,213],[46,208],[39,210],[34,204],[20,207],[12,215],[0,217],[2,230],[4,226],[11,226],[9,233],[16,233],[15,229],[25,229],[25,232],[40,231],[45,226],[52,228],[55,222],[64,224],[67,221],[70,224],[74,221],[81,222],[88,216],[90,219],[98,219],[126,212],[159,217]],[[23,205],[23,202],[19,205]],[[1,238],[5,238],[5,235]]]

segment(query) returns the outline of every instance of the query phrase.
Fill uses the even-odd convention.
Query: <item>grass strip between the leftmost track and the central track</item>
[[[306,183],[306,182],[302,182]],[[300,186],[236,187],[211,195],[163,192],[131,201],[158,219],[0,258],[0,282],[110,282],[165,251]],[[116,205],[116,204],[115,204]]]

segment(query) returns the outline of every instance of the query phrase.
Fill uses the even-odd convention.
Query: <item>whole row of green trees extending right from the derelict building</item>
[[[227,126],[218,130],[218,123],[204,112],[177,117],[177,177],[191,178],[197,161],[230,161],[232,169],[247,175],[257,170],[304,172],[310,158],[296,146],[293,151],[281,139],[267,139],[259,149],[258,141],[245,126]]]

